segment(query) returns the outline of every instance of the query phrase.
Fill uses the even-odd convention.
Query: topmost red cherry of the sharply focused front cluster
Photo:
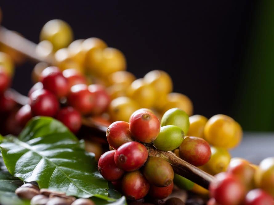
[[[159,119],[148,111],[136,111],[129,119],[129,129],[134,139],[144,143],[154,141],[160,132]]]

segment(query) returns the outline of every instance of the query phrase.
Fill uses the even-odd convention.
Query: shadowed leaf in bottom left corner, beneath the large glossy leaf
[[[29,201],[17,197],[14,191],[23,184],[17,177],[13,177],[6,169],[0,158],[0,204],[4,205],[29,205]]]

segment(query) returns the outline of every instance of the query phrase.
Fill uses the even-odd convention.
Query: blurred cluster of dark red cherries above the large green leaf
[[[58,67],[50,66],[43,69],[39,80],[29,91],[30,104],[19,109],[15,116],[22,126],[31,117],[43,115],[55,117],[77,133],[82,125],[81,115],[101,114],[110,102],[103,86],[88,86],[87,79],[75,69],[61,72]]]

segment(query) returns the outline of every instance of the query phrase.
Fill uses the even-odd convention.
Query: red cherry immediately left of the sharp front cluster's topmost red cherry
[[[118,149],[122,144],[132,141],[129,131],[129,123],[116,121],[107,128],[107,142],[114,149]]]

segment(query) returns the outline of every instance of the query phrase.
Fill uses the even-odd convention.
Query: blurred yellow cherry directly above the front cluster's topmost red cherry
[[[157,97],[154,87],[147,84],[142,78],[131,83],[127,90],[127,96],[134,99],[143,108],[151,108]]]

